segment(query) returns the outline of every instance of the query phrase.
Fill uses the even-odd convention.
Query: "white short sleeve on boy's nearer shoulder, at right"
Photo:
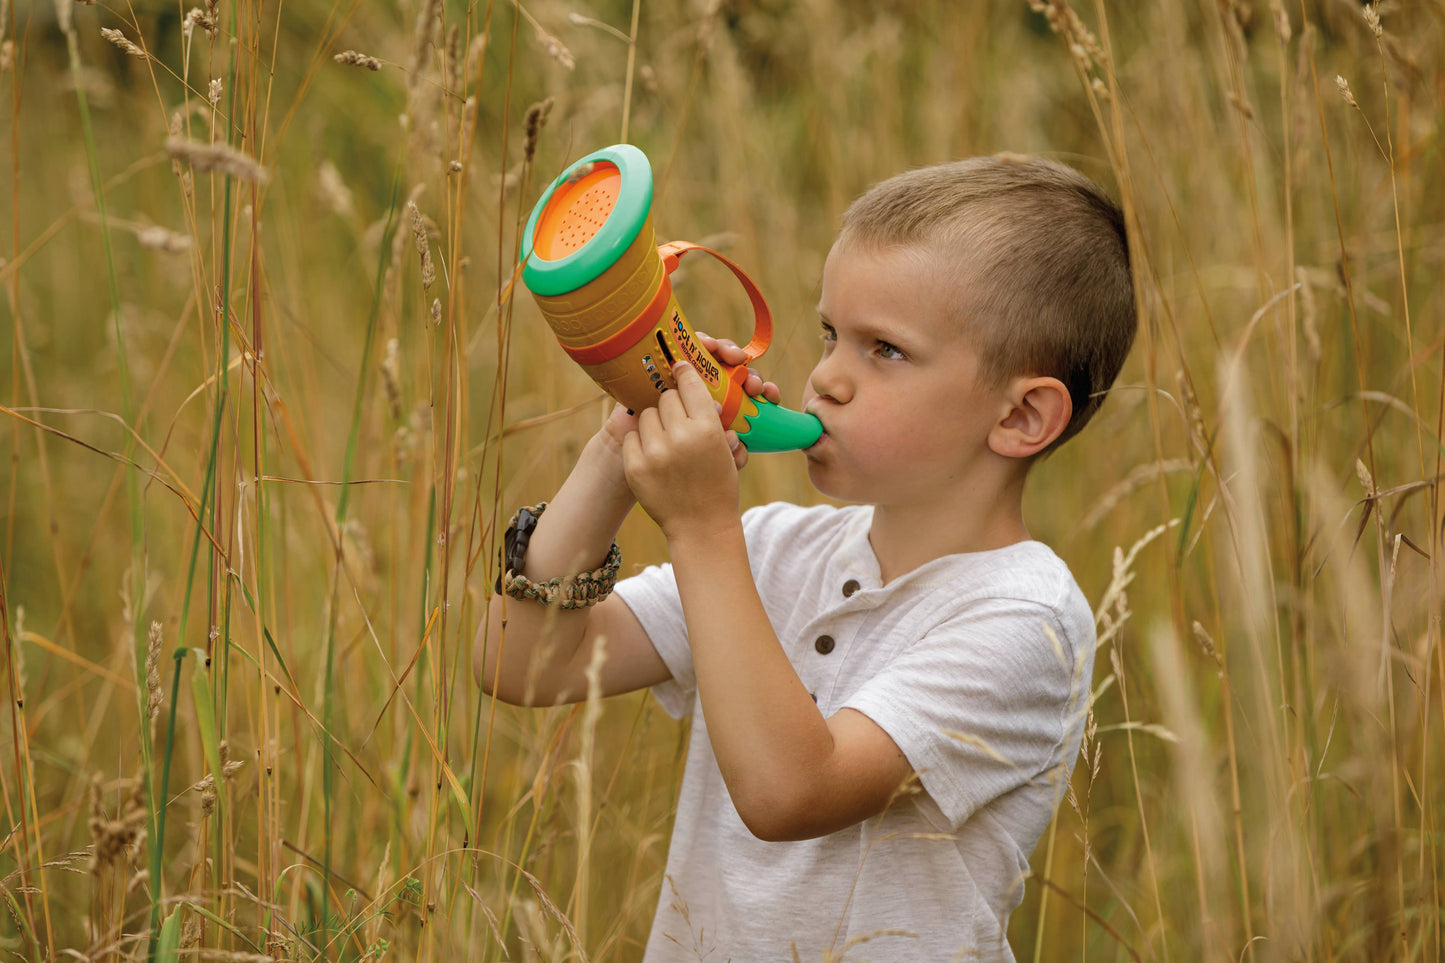
[[[909,645],[842,707],[889,733],[957,829],[1072,765],[1091,662],[1049,607],[988,599]]]

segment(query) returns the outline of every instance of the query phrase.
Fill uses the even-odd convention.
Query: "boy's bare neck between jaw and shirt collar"
[[[919,565],[964,552],[1004,548],[1029,538],[1023,523],[1025,473],[998,484],[951,489],[928,503],[876,505],[868,542],[889,583]]]

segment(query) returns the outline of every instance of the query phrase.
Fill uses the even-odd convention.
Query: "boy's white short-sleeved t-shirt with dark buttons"
[[[1078,755],[1094,619],[1040,542],[933,560],[881,586],[873,509],[766,505],[743,516],[763,606],[824,716],[881,726],[923,792],[821,839],[749,833],[698,703],[670,565],[617,586],[692,714],[647,963],[1013,960],[1029,855]],[[827,636],[831,642],[819,642]]]

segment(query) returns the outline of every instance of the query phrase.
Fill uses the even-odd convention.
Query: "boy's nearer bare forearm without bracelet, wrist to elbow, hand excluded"
[[[763,837],[825,787],[834,736],[773,632],[743,529],[669,539],[714,756],[744,821]]]

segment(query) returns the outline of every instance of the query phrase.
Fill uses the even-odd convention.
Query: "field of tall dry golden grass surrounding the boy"
[[[519,226],[618,140],[789,402],[870,184],[1120,197],[1144,324],[1029,492],[1101,649],[1014,951],[1445,957],[1445,3],[199,3],[0,0],[4,959],[640,956],[686,730],[470,669],[607,411]]]

